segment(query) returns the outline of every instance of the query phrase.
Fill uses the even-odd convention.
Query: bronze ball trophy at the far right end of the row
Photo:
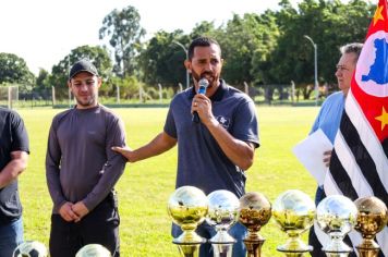
[[[380,247],[374,241],[387,223],[387,206],[377,197],[362,197],[354,201],[359,215],[354,229],[361,233],[363,242],[355,246],[361,257],[377,257]]]

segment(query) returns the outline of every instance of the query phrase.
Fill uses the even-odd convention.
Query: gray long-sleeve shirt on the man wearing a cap
[[[93,210],[113,188],[126,160],[111,150],[124,146],[122,121],[104,106],[57,114],[46,155],[47,185],[53,213],[65,203],[82,200]]]

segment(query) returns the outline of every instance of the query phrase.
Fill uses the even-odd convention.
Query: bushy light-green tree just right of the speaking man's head
[[[216,30],[216,37],[222,47],[223,77],[233,85],[259,81],[259,60],[267,60],[276,46],[279,35],[275,17],[269,13],[257,15],[245,13],[242,17],[234,14],[225,29]]]

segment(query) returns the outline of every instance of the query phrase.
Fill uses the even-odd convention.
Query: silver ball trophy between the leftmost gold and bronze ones
[[[206,222],[217,234],[210,238],[215,257],[231,257],[235,240],[229,235],[229,228],[239,220],[239,198],[229,191],[215,191],[207,196],[209,210]]]

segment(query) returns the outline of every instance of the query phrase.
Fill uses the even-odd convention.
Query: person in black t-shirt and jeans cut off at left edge
[[[0,257],[12,256],[23,242],[17,176],[27,166],[29,144],[22,118],[0,108]]]

